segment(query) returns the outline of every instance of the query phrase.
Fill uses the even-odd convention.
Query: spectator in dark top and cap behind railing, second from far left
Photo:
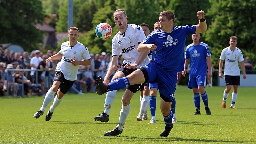
[[[23,65],[17,65],[16,69],[24,69]],[[22,72],[16,71],[15,75],[15,82],[18,84],[22,84]],[[31,85],[31,81],[28,80],[25,76],[23,76],[23,83],[24,83],[24,95],[27,96],[28,92],[30,92],[31,95],[31,89],[29,89],[29,86]],[[22,90],[21,90],[22,91]]]

